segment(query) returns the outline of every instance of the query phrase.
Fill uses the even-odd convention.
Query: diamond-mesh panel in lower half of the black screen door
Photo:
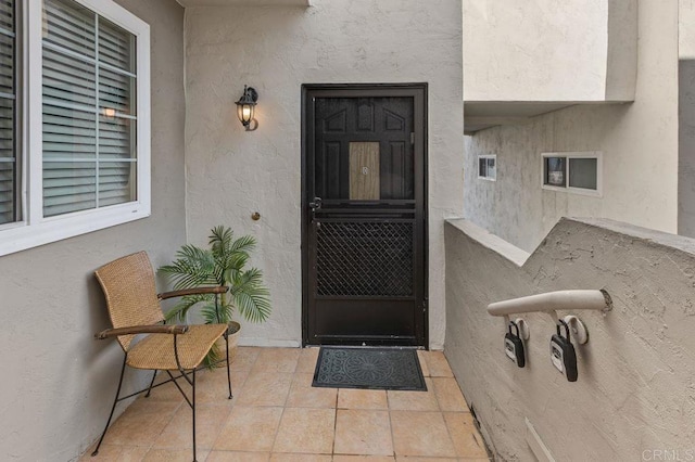
[[[317,223],[317,295],[412,296],[413,232],[412,222]]]

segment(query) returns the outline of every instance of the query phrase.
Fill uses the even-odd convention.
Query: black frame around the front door
[[[314,345],[308,338],[308,298],[309,298],[309,256],[308,256],[308,207],[307,157],[314,146],[314,140],[308,139],[307,124],[314,123],[313,98],[383,98],[413,97],[414,99],[414,131],[415,155],[422,158],[422,336],[418,347],[429,349],[429,227],[428,227],[428,84],[302,84],[301,108],[301,156],[302,156],[302,203],[301,203],[301,253],[302,253],[302,346]],[[419,97],[419,98],[418,98]],[[312,120],[309,120],[312,117]],[[421,124],[418,124],[418,118]],[[421,149],[421,152],[419,152]]]

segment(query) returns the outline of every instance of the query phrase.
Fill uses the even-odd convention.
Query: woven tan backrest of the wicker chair
[[[138,252],[118,258],[94,273],[106,297],[106,308],[114,329],[156,324],[164,320],[148,254]],[[125,351],[134,337],[117,337]]]

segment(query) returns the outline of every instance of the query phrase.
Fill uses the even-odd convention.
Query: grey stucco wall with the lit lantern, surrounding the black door
[[[301,342],[301,85],[426,81],[430,345],[442,347],[443,218],[463,210],[460,18],[459,0],[187,9],[188,236],[204,243],[217,223],[254,234],[273,297],[271,319],[247,324],[242,343]],[[260,93],[252,132],[236,116],[244,84]]]

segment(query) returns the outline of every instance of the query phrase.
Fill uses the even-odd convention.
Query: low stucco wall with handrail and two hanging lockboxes
[[[534,460],[525,418],[558,461],[639,461],[692,457],[695,441],[695,241],[609,220],[563,220],[522,265],[464,220],[447,223],[446,347],[466,400],[500,460]],[[589,343],[578,346],[579,380],[551,364],[555,325],[530,324],[527,367],[504,355],[503,318],[486,306],[569,288],[605,288],[606,316],[574,312]],[[568,315],[560,311],[559,316]],[[661,452],[662,454],[664,452]]]

